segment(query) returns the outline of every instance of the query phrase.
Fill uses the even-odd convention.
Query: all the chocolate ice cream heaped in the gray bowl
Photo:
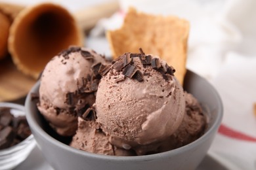
[[[38,109],[70,146],[112,156],[165,152],[198,139],[207,126],[198,101],[158,56],[125,53],[112,65],[73,47],[45,67]],[[78,122],[78,124],[77,124]]]

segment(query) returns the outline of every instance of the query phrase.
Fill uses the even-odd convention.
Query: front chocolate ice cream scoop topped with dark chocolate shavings
[[[95,101],[96,122],[110,143],[127,150],[154,145],[178,129],[185,99],[174,72],[158,56],[142,50],[116,60],[100,80]]]

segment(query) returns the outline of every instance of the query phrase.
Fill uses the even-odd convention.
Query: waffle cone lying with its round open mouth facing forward
[[[20,71],[35,78],[70,45],[83,45],[74,16],[60,5],[42,3],[22,10],[11,25],[8,48]]]

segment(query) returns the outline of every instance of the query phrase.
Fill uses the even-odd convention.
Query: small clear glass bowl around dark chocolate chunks
[[[11,114],[15,116],[25,116],[25,109],[22,105],[14,103],[0,103],[0,108],[10,108]],[[0,170],[3,169],[14,169],[22,161],[26,160],[30,152],[35,147],[35,140],[33,135],[30,135],[24,141],[0,150]]]

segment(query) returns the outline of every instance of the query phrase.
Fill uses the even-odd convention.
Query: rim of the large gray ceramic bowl
[[[213,94],[217,98],[216,105],[218,106],[219,111],[217,112],[215,122],[213,122],[212,126],[209,127],[207,129],[207,131],[205,131],[205,133],[200,138],[196,139],[196,141],[193,141],[192,143],[186,144],[184,146],[181,146],[179,148],[175,148],[173,150],[169,150],[166,152],[160,152],[157,154],[149,154],[149,155],[143,155],[143,156],[108,156],[108,155],[103,155],[103,154],[95,154],[95,153],[91,153],[91,152],[85,152],[83,150],[79,150],[77,148],[73,148],[72,146],[68,146],[67,144],[61,143],[60,141],[51,137],[51,135],[49,135],[38,124],[36,124],[35,120],[32,116],[31,105],[35,105],[35,104],[33,104],[34,102],[32,101],[31,94],[38,93],[37,88],[39,88],[40,80],[38,80],[35,83],[35,85],[30,90],[30,92],[28,93],[28,95],[26,97],[26,102],[25,102],[26,118],[28,120],[28,124],[30,124],[30,127],[32,127],[34,131],[37,131],[37,133],[39,133],[44,139],[47,139],[47,141],[49,141],[50,143],[52,143],[53,145],[55,145],[57,147],[60,147],[64,150],[68,150],[70,152],[74,152],[74,154],[79,154],[79,155],[87,156],[87,157],[94,158],[94,159],[96,158],[98,160],[109,160],[109,161],[145,161],[145,160],[157,160],[157,159],[161,159],[164,157],[173,156],[178,153],[186,152],[187,150],[194,148],[194,146],[198,146],[198,145],[202,144],[204,141],[206,141],[208,139],[209,135],[211,135],[211,133],[215,133],[215,131],[217,131],[217,129],[219,129],[219,126],[221,125],[221,121],[223,118],[223,103],[221,101],[221,97],[220,97],[219,93],[217,92],[217,90],[215,90],[215,88],[202,76],[197,75],[196,73],[194,73],[190,70],[187,70],[187,73],[192,74],[193,76],[197,76],[197,78],[200,78],[205,84],[207,84],[209,86],[209,88],[211,88],[211,90],[213,91]]]

